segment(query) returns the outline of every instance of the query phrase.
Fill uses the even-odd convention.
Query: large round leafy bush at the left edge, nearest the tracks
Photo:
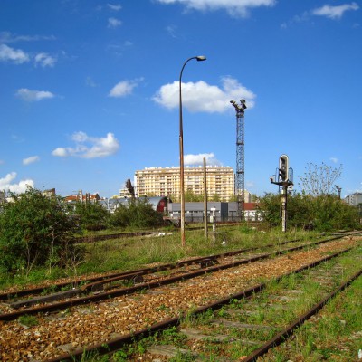
[[[0,267],[28,272],[34,266],[65,265],[76,252],[71,242],[79,228],[61,198],[32,187],[12,198],[0,213]]]

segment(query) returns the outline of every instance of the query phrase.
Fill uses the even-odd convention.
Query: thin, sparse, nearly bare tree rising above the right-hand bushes
[[[304,193],[312,196],[328,195],[341,174],[342,165],[336,168],[323,162],[320,166],[310,163],[307,164],[304,176],[300,176],[300,187]]]

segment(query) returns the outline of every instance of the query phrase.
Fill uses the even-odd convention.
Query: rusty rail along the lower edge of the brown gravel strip
[[[353,248],[348,248],[348,249],[340,251],[340,252],[335,252],[329,256],[319,259],[316,262],[311,262],[308,265],[302,266],[295,271],[291,271],[289,273],[283,274],[280,277],[275,278],[275,280],[281,281],[282,278],[285,278],[285,277],[295,274],[295,273],[299,273],[301,271],[305,271],[309,268],[319,265],[322,262],[327,262],[330,259],[333,259],[344,252],[350,251],[351,249],[353,249]],[[218,310],[218,309],[222,308],[224,305],[229,304],[232,300],[242,300],[242,299],[251,297],[253,294],[263,291],[266,287],[267,287],[267,283],[257,284],[251,288],[248,288],[244,291],[235,293],[222,300],[217,300],[217,301],[209,303],[203,307],[198,307],[191,314],[197,315],[197,314],[204,313],[206,310]],[[139,338],[145,338],[145,337],[151,336],[152,334],[154,334],[155,332],[157,332],[159,330],[168,329],[170,327],[177,327],[180,325],[180,322],[184,317],[186,317],[186,312],[181,314],[179,317],[174,317],[171,319],[164,320],[162,322],[153,324],[152,326],[150,326],[146,329],[140,329],[138,331],[134,331],[134,332],[124,335],[122,337],[112,338],[106,342],[98,343],[96,345],[92,345],[89,347],[77,348],[71,354],[63,354],[58,357],[52,357],[50,359],[46,359],[45,362],[81,361],[81,358],[84,357],[84,354],[91,353],[91,352],[98,353],[100,355],[110,354],[111,352],[116,352],[120,348],[123,348],[125,345],[138,340]]]

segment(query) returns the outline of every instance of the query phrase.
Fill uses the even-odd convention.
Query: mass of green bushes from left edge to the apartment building
[[[110,214],[101,205],[81,202],[67,205],[62,197],[49,197],[32,187],[11,197],[12,201],[0,209],[0,272],[13,276],[28,276],[34,268],[45,268],[52,274],[55,267],[77,273],[84,247],[73,242],[84,231],[162,224],[162,215],[147,199],[130,200],[127,206],[120,205]]]

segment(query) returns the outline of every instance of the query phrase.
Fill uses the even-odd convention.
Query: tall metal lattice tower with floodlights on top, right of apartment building
[[[245,203],[245,173],[244,173],[244,110],[246,110],[245,100],[240,100],[237,104],[230,100],[236,110],[236,185],[235,194],[237,197],[238,215],[243,220],[243,209]]]

